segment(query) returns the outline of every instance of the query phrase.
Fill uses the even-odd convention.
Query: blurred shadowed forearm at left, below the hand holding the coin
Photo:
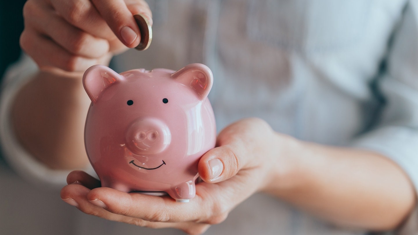
[[[52,169],[86,166],[83,133],[90,102],[82,86],[82,73],[51,69],[34,76],[13,103],[18,140]]]

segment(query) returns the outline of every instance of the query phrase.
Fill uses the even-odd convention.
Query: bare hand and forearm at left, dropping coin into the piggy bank
[[[46,166],[77,169],[88,164],[83,133],[90,101],[82,75],[138,45],[139,29],[132,17],[138,13],[152,23],[148,4],[140,0],[25,3],[20,45],[39,71],[15,99],[13,125],[23,146]],[[138,34],[130,44],[122,43],[124,26]]]

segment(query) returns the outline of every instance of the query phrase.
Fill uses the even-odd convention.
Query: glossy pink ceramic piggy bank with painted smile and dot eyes
[[[92,104],[85,145],[102,186],[124,192],[195,196],[199,158],[215,146],[207,95],[213,76],[203,64],[117,74],[95,65],[83,84]]]

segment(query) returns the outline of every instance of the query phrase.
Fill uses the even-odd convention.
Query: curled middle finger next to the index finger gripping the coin
[[[81,30],[112,41],[115,34],[89,0],[51,1],[57,13]]]

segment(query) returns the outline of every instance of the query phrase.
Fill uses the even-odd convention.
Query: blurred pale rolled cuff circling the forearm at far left
[[[17,92],[38,71],[35,62],[23,54],[5,74],[0,92],[0,144],[5,161],[23,179],[48,188],[66,185],[69,170],[50,169],[28,153],[15,136],[11,120],[11,107]],[[91,166],[85,169],[95,176]]]

